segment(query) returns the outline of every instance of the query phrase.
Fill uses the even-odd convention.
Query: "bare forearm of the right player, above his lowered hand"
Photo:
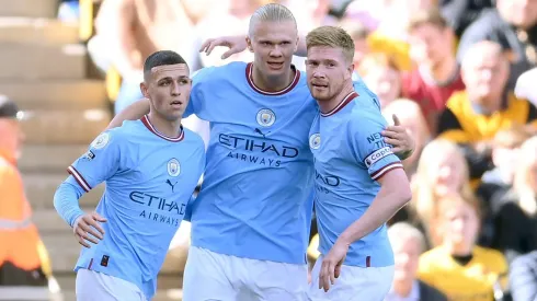
[[[343,231],[340,240],[349,244],[361,240],[387,222],[409,200],[410,196],[399,189],[380,188],[369,208],[358,220]]]

